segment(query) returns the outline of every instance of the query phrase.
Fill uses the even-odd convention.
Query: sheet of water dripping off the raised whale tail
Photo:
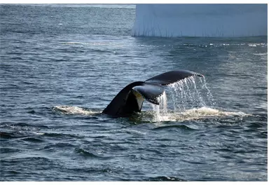
[[[154,121],[166,121],[169,116],[168,110],[183,113],[190,109],[214,106],[214,98],[207,88],[205,77],[200,78],[200,81],[195,81],[195,78],[198,77],[191,76],[167,85],[167,95],[163,93],[158,97],[160,104],[152,105]],[[167,96],[172,97],[172,101],[167,102]]]

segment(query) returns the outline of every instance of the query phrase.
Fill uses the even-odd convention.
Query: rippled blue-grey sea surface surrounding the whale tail
[[[0,6],[1,181],[267,181],[268,42],[132,37],[133,5]],[[134,81],[160,106],[102,110]]]

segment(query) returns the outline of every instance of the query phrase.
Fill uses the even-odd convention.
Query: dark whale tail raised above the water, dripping
[[[163,95],[165,86],[191,76],[203,77],[188,70],[167,71],[146,81],[135,81],[126,85],[102,111],[103,114],[126,117],[142,110],[144,100],[151,104],[160,104],[158,97]]]

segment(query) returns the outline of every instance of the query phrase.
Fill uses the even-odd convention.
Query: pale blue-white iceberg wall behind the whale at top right
[[[137,4],[132,36],[267,36],[267,4]]]

